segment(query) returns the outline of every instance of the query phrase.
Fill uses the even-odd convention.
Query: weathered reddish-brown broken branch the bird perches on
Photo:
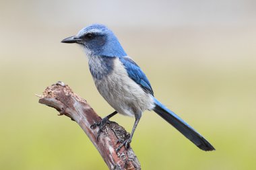
[[[46,87],[39,103],[55,108],[59,115],[65,115],[79,124],[86,132],[109,169],[141,169],[139,161],[132,148],[124,146],[116,151],[118,140],[124,140],[129,135],[126,130],[115,122],[106,124],[97,140],[98,127],[90,126],[102,120],[90,107],[85,99],[73,93],[71,88],[62,82]]]

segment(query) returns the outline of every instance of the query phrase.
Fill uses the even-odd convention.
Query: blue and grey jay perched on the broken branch
[[[141,114],[145,110],[154,110],[203,151],[215,150],[201,134],[154,97],[145,73],[127,56],[115,34],[106,26],[93,24],[80,30],[76,36],[65,38],[61,42],[77,43],[84,48],[92,78],[100,95],[116,110],[103,118],[102,122],[96,123],[96,126],[102,128],[108,119],[117,113],[135,116],[131,136],[121,142],[117,151],[122,146],[129,147]]]

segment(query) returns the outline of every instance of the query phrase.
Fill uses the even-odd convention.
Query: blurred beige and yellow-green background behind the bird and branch
[[[107,169],[84,132],[40,105],[70,85],[100,114],[102,99],[79,46],[106,24],[148,75],[162,103],[215,147],[203,152],[154,112],[131,146],[143,169],[256,169],[256,1],[0,1],[0,169]],[[128,131],[134,118],[115,116]]]

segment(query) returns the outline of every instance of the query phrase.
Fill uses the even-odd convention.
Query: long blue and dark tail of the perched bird
[[[172,111],[168,110],[160,101],[154,98],[156,107],[154,108],[154,112],[160,115],[164,120],[166,120],[169,124],[177,128],[179,132],[181,132],[184,136],[186,136],[191,142],[193,142],[197,147],[201,148],[203,151],[213,151],[215,150],[214,146],[210,144],[201,134],[199,134],[196,130],[194,130],[189,124],[187,124],[184,120],[179,118]]]

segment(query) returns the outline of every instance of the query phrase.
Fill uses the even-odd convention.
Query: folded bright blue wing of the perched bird
[[[139,66],[129,57],[121,57],[119,58],[123,65],[125,66],[125,69],[131,79],[135,81],[140,87],[146,91],[147,93],[150,93],[154,96],[154,92],[152,90],[152,87],[150,85],[150,81],[148,81],[148,78],[146,75],[141,71]]]

